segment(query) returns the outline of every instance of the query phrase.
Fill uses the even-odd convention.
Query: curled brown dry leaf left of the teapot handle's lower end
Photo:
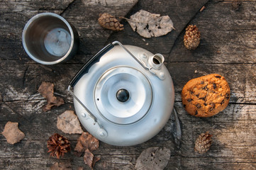
[[[62,98],[60,97],[55,97],[53,96],[53,88],[54,85],[49,83],[49,82],[43,82],[39,89],[38,92],[47,100],[47,104],[45,106],[43,106],[43,111],[50,111],[50,109],[53,106],[60,106],[62,104],[64,104],[64,101]]]

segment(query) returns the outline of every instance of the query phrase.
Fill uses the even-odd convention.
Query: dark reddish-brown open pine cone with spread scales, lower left
[[[57,133],[53,134],[49,137],[47,142],[48,152],[50,152],[50,156],[60,158],[60,156],[64,156],[65,153],[70,151],[70,143],[66,137],[59,135]]]

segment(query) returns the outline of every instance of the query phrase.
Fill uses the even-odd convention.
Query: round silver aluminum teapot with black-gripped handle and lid
[[[94,55],[68,87],[84,128],[117,146],[138,145],[157,135],[174,106],[174,86],[164,60],[118,41]]]

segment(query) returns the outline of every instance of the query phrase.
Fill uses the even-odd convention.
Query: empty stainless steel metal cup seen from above
[[[23,29],[23,47],[40,64],[57,64],[72,58],[79,46],[77,30],[55,13],[30,18]]]

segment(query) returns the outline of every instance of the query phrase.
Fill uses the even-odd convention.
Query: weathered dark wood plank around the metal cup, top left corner
[[[1,2],[0,6],[2,5],[2,8],[4,8],[0,13],[0,24],[3,26],[0,28],[3,30],[0,32],[0,45],[3,45],[1,50],[4,51],[1,58],[3,57],[3,60],[21,59],[28,60],[28,62],[31,61],[23,50],[21,35],[26,22],[36,14],[43,12],[61,14],[77,28],[80,37],[79,54],[86,54],[91,57],[104,47],[109,35],[113,33],[112,30],[106,30],[99,26],[99,13],[107,12],[113,16],[125,16],[137,1],[75,0],[65,1],[63,4],[61,4],[62,1],[57,1],[53,4],[50,1],[38,1],[35,3],[27,1],[21,1],[20,3]],[[18,8],[18,11],[16,8]],[[9,10],[13,11],[13,13],[10,13]],[[14,51],[12,51],[13,49]],[[19,55],[17,56],[17,54]],[[86,61],[84,57],[77,57],[76,60],[82,63]]]

